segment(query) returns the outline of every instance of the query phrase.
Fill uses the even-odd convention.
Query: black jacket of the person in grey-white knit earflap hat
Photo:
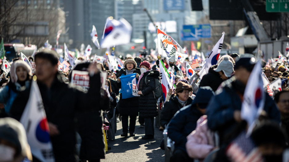
[[[220,78],[218,72],[214,71],[213,69],[217,68],[217,65],[213,65],[210,67],[208,74],[204,75],[201,79],[201,83],[199,87],[210,86],[213,91],[216,91],[220,84],[223,82],[223,79]]]

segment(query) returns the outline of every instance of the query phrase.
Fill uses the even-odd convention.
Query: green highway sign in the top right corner
[[[267,12],[289,12],[289,0],[266,0]]]

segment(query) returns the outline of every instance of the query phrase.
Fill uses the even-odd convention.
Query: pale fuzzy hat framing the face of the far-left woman
[[[16,75],[16,69],[19,66],[22,66],[27,71],[27,74],[32,76],[31,67],[26,62],[24,62],[23,60],[17,60],[17,61],[12,63],[11,69],[10,69],[10,75],[11,75],[12,83],[17,82],[17,80],[18,80],[18,77]]]

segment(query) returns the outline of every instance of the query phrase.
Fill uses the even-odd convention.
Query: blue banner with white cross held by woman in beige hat
[[[137,73],[120,76],[122,99],[135,97],[133,95],[133,80],[136,79]],[[136,82],[137,83],[137,82]]]

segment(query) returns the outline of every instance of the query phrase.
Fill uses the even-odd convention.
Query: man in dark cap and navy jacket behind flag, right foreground
[[[224,155],[225,149],[234,138],[232,133],[243,121],[241,118],[243,95],[254,65],[255,58],[240,58],[234,67],[234,77],[221,84],[222,88],[216,91],[216,96],[211,99],[207,106],[208,128],[212,131],[218,131],[220,137],[220,151],[216,161],[227,161]],[[280,113],[268,93],[265,93],[263,110],[268,114],[269,119],[280,122]]]

